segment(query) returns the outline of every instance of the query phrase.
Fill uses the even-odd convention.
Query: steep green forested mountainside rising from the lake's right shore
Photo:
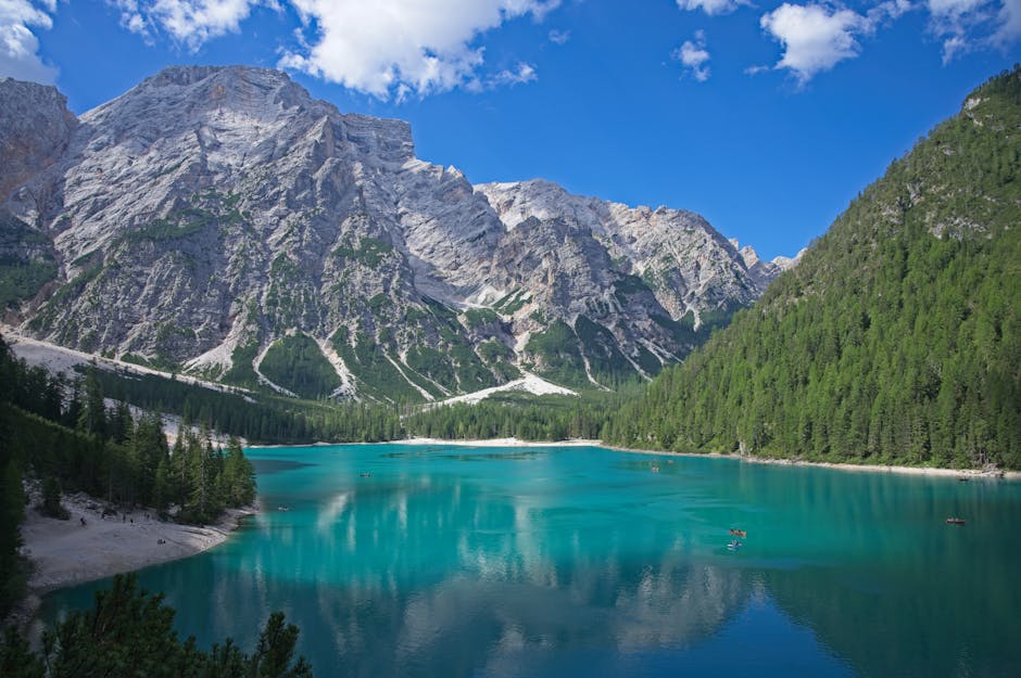
[[[1021,468],[1021,69],[609,428],[660,449]]]

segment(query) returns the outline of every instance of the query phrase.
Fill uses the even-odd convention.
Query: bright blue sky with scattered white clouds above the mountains
[[[0,0],[0,76],[77,113],[171,64],[281,67],[475,183],[693,209],[767,258],[1018,61],[1021,0]]]

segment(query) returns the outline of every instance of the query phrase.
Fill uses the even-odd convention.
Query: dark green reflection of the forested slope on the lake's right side
[[[1006,564],[1017,563],[1021,549],[1008,536],[1017,502],[1005,499],[1003,486],[784,471],[792,473],[783,483],[748,473],[742,486],[754,506],[789,507],[776,536],[769,526],[755,532],[764,542],[756,555],[809,551],[794,539],[810,540],[820,554],[819,565],[792,570],[761,560],[779,607],[866,676],[1018,675],[1021,588]],[[947,515],[967,515],[969,524],[946,525]]]

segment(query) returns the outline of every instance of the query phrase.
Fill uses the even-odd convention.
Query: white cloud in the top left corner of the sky
[[[46,11],[37,5],[42,5]],[[36,4],[29,0],[0,0],[0,77],[52,84],[56,68],[39,57],[39,39],[34,29],[49,29],[55,12],[55,0]]]

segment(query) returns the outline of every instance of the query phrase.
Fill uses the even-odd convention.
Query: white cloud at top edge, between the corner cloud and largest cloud
[[[143,36],[159,27],[197,50],[206,40],[240,30],[260,0],[110,0],[121,10],[121,25]]]

